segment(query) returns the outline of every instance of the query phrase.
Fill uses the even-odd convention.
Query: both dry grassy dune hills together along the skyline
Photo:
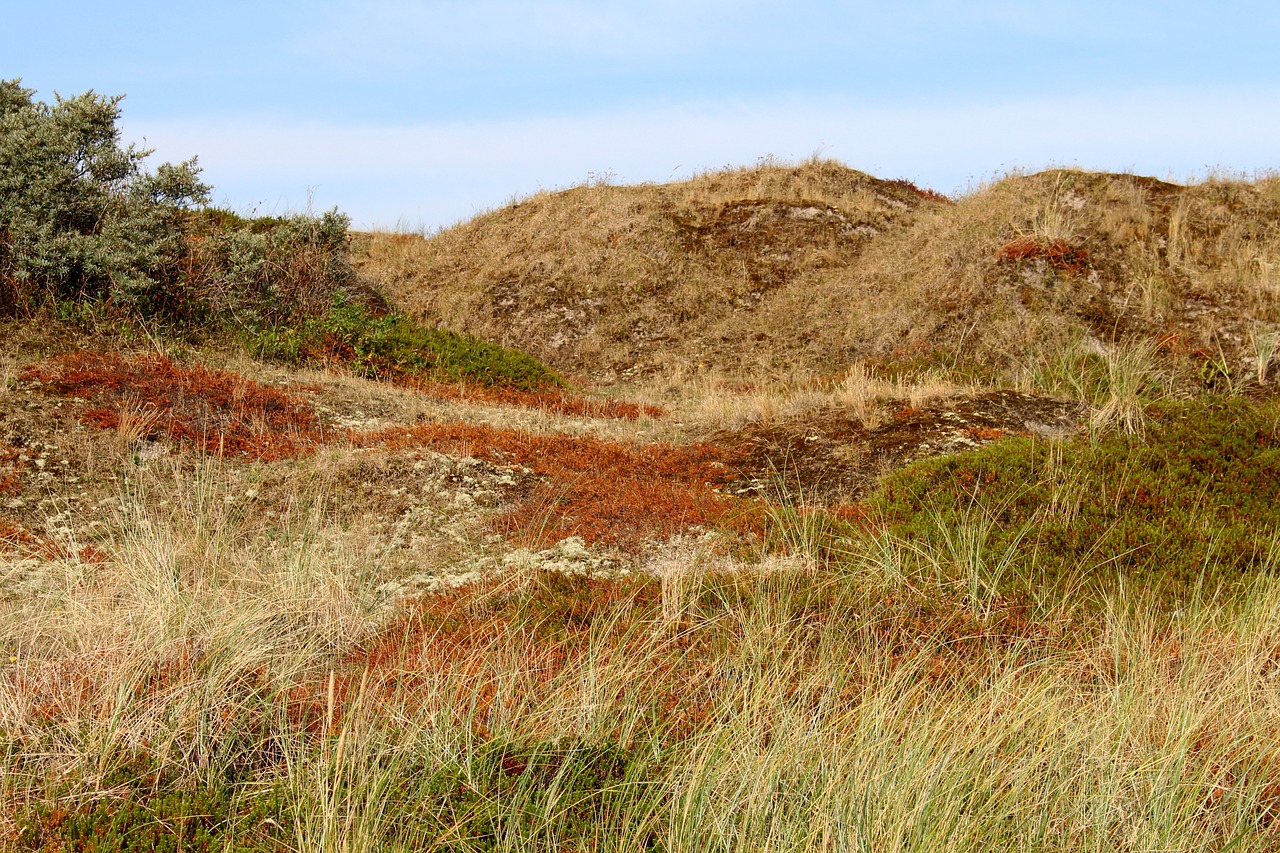
[[[1009,380],[1143,341],[1245,377],[1280,320],[1280,179],[1051,170],[950,204],[832,161],[763,163],[374,234],[362,263],[417,316],[570,373],[869,359]]]

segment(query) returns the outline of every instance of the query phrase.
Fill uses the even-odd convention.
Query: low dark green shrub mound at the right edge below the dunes
[[[1275,405],[1164,402],[1149,418],[1144,438],[1014,438],[918,462],[884,482],[872,514],[922,560],[954,551],[955,532],[977,520],[978,558],[1012,555],[1005,590],[1123,584],[1180,599],[1275,569]]]

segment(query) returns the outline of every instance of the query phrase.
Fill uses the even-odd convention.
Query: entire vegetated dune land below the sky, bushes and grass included
[[[367,242],[481,339],[115,115],[0,81],[0,849],[1277,849],[1276,182]]]

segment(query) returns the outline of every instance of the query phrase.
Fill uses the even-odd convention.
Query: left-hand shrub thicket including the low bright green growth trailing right
[[[266,357],[366,375],[559,384],[520,352],[388,311],[351,264],[351,219],[209,207],[196,159],[143,168],[120,145],[120,97],[32,99],[0,81],[0,315],[123,311],[182,329],[234,327]]]

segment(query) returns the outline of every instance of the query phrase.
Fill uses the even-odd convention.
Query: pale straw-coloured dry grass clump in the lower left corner
[[[42,583],[0,601],[6,849],[45,848],[35,826],[23,836],[14,825],[36,803],[51,802],[38,824],[58,838],[105,798],[97,841],[49,845],[104,849],[93,844],[129,815],[140,777],[154,824],[170,770],[191,792],[279,760],[283,744],[262,738],[288,708],[268,697],[311,678],[376,619],[367,565],[324,540],[319,496],[300,493],[264,530],[243,501],[225,500],[224,479],[211,460],[195,476],[138,471],[108,519],[101,561],[46,557]],[[65,779],[74,785],[59,788]],[[198,824],[191,807],[173,816],[178,826]]]

